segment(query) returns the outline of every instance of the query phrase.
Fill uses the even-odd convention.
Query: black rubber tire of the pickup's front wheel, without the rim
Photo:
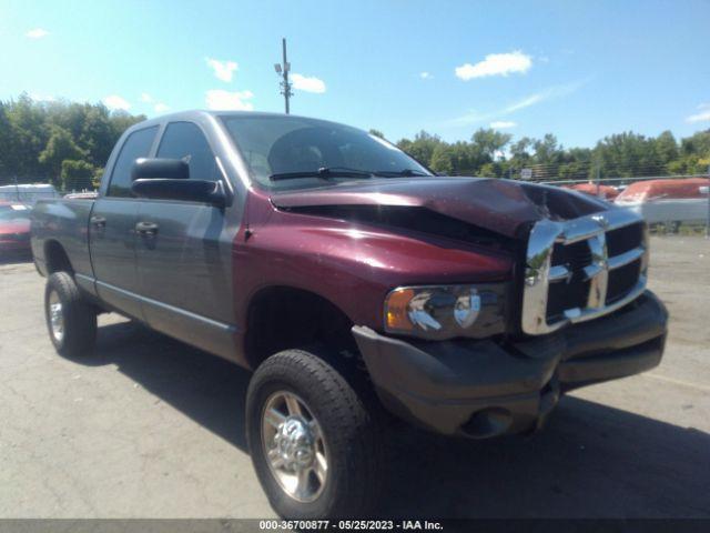
[[[281,391],[303,399],[327,444],[327,481],[310,503],[281,487],[264,453],[262,413],[272,394]],[[258,366],[246,395],[246,436],[256,475],[276,513],[288,519],[368,516],[385,473],[382,423],[367,404],[341,373],[313,353],[286,350]]]

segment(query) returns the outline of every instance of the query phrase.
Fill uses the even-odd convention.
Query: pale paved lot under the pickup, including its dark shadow
[[[58,356],[31,263],[0,264],[0,517],[267,517],[243,431],[248,373],[103,315]],[[710,516],[710,242],[653,238],[662,364],[562,399],[528,438],[398,429],[397,516]]]

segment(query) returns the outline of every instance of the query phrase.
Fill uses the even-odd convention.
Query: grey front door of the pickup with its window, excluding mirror
[[[193,122],[166,125],[158,158],[183,159],[190,177],[223,179]],[[141,201],[136,264],[143,315],[151,328],[204,350],[232,350],[232,237],[226,210],[179,200]]]

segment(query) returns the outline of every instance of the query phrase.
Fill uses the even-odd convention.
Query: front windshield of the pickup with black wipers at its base
[[[356,128],[283,115],[225,115],[222,121],[252,178],[270,189],[373,175],[432,175],[394,144]]]

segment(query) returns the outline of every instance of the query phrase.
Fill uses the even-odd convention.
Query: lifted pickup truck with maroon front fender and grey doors
[[[437,177],[333,122],[145,121],[95,199],[32,217],[59,353],[90,354],[97,314],[118,312],[254,371],[247,440],[284,516],[367,513],[393,415],[470,439],[528,432],[564,392],[663,352],[637,214]]]

